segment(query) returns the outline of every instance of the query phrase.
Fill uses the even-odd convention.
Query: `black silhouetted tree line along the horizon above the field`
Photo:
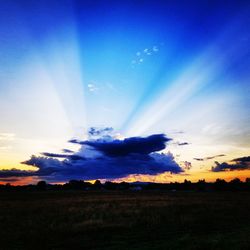
[[[152,183],[152,182],[111,182],[106,181],[101,183],[96,180],[94,183],[86,182],[83,180],[70,180],[65,184],[48,184],[45,181],[39,181],[36,185],[22,185],[14,186],[10,183],[0,184],[0,191],[49,191],[49,190],[130,190],[130,191],[143,191],[143,190],[166,190],[166,191],[250,191],[250,178],[241,181],[235,178],[229,182],[224,179],[217,179],[215,182],[206,182],[205,179],[198,182],[191,182],[184,180],[184,182],[171,182],[171,183]]]

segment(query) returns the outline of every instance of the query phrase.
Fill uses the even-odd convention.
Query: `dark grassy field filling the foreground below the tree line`
[[[0,192],[0,249],[250,249],[249,192]]]

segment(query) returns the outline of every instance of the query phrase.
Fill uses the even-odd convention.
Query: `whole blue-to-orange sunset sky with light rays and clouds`
[[[250,177],[249,27],[247,0],[0,1],[0,183]]]

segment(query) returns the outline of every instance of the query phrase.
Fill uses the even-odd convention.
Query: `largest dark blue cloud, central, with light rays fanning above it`
[[[82,145],[78,152],[46,152],[42,153],[43,156],[32,156],[23,163],[36,167],[36,171],[0,171],[0,177],[37,176],[46,181],[59,182],[70,179],[115,179],[130,174],[177,174],[183,171],[171,153],[157,152],[165,149],[166,143],[171,140],[164,134],[124,140],[112,139],[111,136],[108,140],[105,138],[106,135],[86,141],[71,140]]]

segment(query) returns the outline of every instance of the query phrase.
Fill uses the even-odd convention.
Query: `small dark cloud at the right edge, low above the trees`
[[[236,158],[231,160],[233,164],[223,162],[215,162],[215,167],[211,168],[212,172],[221,172],[221,171],[234,171],[234,170],[247,170],[250,169],[250,156]]]

